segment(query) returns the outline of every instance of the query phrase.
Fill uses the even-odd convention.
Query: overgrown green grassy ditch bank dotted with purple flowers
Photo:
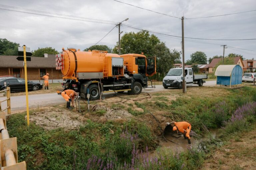
[[[185,152],[162,150],[154,157],[149,157],[148,150],[158,147],[159,129],[133,119],[87,120],[79,129],[68,131],[45,130],[34,123],[27,127],[25,114],[16,114],[9,117],[7,128],[10,136],[18,138],[19,161],[25,160],[28,169],[199,169],[205,159],[212,157],[213,149],[229,140],[230,133],[245,130],[237,127],[252,126],[255,110],[239,109],[250,108],[247,105],[256,101],[255,94],[253,87],[234,90],[194,87],[188,88],[187,94],[180,94],[179,90],[154,93],[150,99],[134,105],[112,104],[112,109],[128,110],[146,122],[154,121],[148,112],[154,113],[162,126],[173,118],[188,121],[198,134],[205,134],[205,127],[225,127],[220,139],[209,136]],[[135,106],[142,110],[135,110]],[[91,115],[102,114],[105,112]]]

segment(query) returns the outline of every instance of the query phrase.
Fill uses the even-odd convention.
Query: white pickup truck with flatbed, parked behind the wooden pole
[[[182,68],[171,68],[163,79],[164,88],[178,87],[182,89],[182,76]],[[187,86],[192,86],[193,84],[203,86],[203,83],[205,83],[203,79],[207,79],[207,74],[194,75],[192,68],[185,68],[185,81]]]

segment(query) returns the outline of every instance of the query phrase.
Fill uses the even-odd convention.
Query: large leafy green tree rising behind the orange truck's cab
[[[120,43],[122,54],[143,52],[146,57],[156,56],[156,71],[160,74],[167,72],[180,59],[180,52],[176,49],[170,51],[164,42],[148,31],[125,33]],[[118,53],[117,47],[118,42],[113,49],[114,53]]]

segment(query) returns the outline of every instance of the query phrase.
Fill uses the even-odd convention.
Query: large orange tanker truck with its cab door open
[[[156,57],[62,48],[56,55],[56,69],[63,74],[64,90],[72,89],[83,98],[89,93],[91,100],[97,100],[101,92],[140,94],[148,87],[147,76],[156,74]]]

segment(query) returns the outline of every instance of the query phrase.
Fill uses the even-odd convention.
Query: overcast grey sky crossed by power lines
[[[186,18],[229,14],[256,9],[255,0],[120,0],[171,16]],[[168,35],[181,36],[181,20],[160,15],[113,0],[1,0],[1,5],[15,6],[58,14],[121,22]],[[2,9],[11,9],[0,7]],[[23,10],[19,10],[23,11]],[[28,12],[28,11],[27,11]],[[34,12],[32,12],[34,13]],[[48,14],[47,14],[48,15]],[[33,14],[0,10],[0,38],[26,44],[32,50],[51,46],[58,51],[62,47],[81,50],[94,45],[115,25],[52,18]],[[207,39],[251,39],[256,38],[256,11],[213,18],[184,20],[185,37]],[[121,31],[137,32],[121,27]],[[181,51],[181,39],[155,34],[170,49]],[[98,44],[114,47],[118,41],[118,28],[115,28]],[[185,40],[185,60],[195,51],[203,51],[207,57],[223,55],[223,47],[256,50],[256,40],[248,41],[209,41]],[[256,58],[256,51],[228,47],[225,54],[237,53],[247,59]]]

